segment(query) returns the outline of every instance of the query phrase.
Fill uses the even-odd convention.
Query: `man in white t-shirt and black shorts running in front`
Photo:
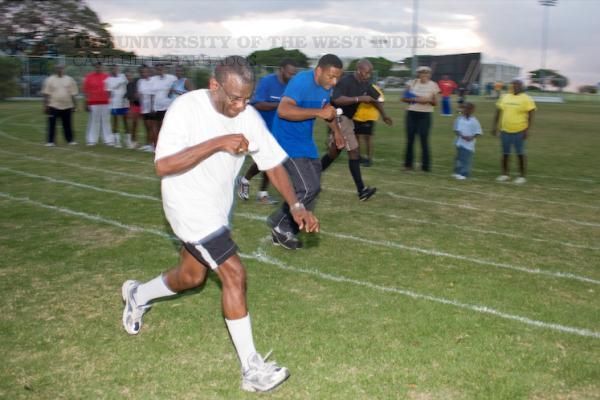
[[[256,352],[246,304],[246,270],[231,238],[234,183],[247,153],[290,204],[294,221],[318,232],[319,221],[299,203],[282,150],[262,118],[246,107],[254,90],[247,60],[230,56],[215,68],[209,88],[178,97],[167,112],[156,148],[165,215],[183,242],[179,265],[146,282],[123,284],[123,326],[135,335],[150,302],[200,286],[210,270],[222,283],[225,323],[242,367],[242,389],[268,391],[289,372]]]

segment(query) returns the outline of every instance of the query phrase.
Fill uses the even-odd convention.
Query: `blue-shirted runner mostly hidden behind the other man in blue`
[[[296,72],[294,61],[285,59],[279,64],[277,72],[263,77],[258,83],[251,104],[258,110],[271,132],[273,131],[273,118],[277,113],[277,106],[281,101],[288,82],[296,75]],[[237,179],[237,193],[240,199],[248,200],[250,198],[250,180],[258,173],[258,166],[256,163],[252,163],[246,174]],[[271,196],[267,192],[267,186],[269,185],[267,174],[263,172],[262,176],[263,180],[257,196],[258,201],[262,204],[277,203],[276,200],[271,199]]]

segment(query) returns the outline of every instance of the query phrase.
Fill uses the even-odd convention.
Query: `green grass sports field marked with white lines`
[[[292,374],[269,398],[600,399],[598,105],[540,105],[523,186],[494,181],[493,103],[477,107],[488,135],[456,182],[452,120],[435,117],[433,172],[405,173],[388,104],[363,169],[378,194],[359,202],[336,161],[306,249],[273,248],[272,208],[237,204],[255,341]],[[0,398],[255,398],[214,276],[123,331],[122,282],[177,260],[152,157],[44,131],[41,104],[0,103]]]

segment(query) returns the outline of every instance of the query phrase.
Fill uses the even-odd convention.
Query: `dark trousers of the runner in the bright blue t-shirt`
[[[313,211],[317,204],[317,196],[321,191],[321,160],[318,158],[288,158],[283,166],[287,170],[298,201],[307,210]],[[298,233],[298,225],[294,222],[290,206],[283,206],[268,219],[272,228],[279,227],[282,232]]]

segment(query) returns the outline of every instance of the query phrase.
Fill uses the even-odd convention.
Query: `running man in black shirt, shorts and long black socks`
[[[369,80],[373,72],[373,65],[369,60],[363,59],[356,64],[356,71],[352,75],[346,75],[337,84],[333,91],[332,103],[340,107],[343,114],[339,118],[342,135],[346,140],[346,150],[348,151],[348,168],[352,179],[358,191],[358,198],[361,201],[368,200],[376,192],[376,188],[365,186],[360,172],[360,152],[358,151],[358,140],[354,132],[354,122],[352,117],[358,109],[360,103],[372,103],[377,107],[383,121],[391,125],[384,109],[383,103],[379,102],[379,93],[373,88]],[[329,141],[328,152],[321,158],[321,169],[325,171],[331,163],[340,155],[342,149],[338,149],[333,140]]]

